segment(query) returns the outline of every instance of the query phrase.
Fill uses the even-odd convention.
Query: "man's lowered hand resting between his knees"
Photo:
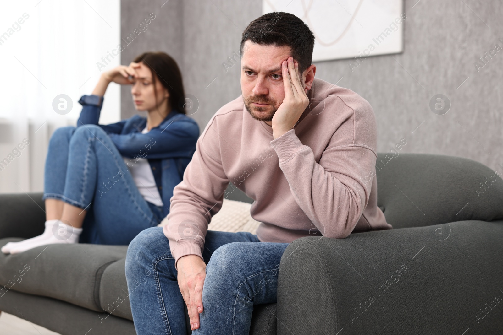
[[[178,260],[178,286],[189,311],[191,329],[199,328],[199,313],[203,311],[203,284],[206,263],[197,255],[182,256]]]

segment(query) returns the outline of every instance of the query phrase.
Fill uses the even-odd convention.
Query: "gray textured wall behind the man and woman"
[[[478,72],[474,66],[495,44],[503,47],[498,40],[503,40],[503,4],[416,2],[405,1],[402,54],[368,57],[353,71],[351,59],[317,62],[316,76],[331,83],[340,80],[338,85],[371,103],[379,152],[390,151],[404,138],[407,144],[400,153],[466,157],[503,172],[503,50],[487,58]],[[156,15],[134,41],[138,43],[122,52],[122,63],[146,50],[171,54],[182,68],[186,92],[199,100],[192,117],[202,130],[218,108],[240,94],[239,64],[226,72],[222,62],[234,51],[238,54],[241,33],[262,14],[262,1],[170,0],[160,8],[163,3],[122,1],[123,36],[149,13]],[[429,107],[439,93],[451,101],[445,115]],[[129,88],[123,88],[122,116],[133,113]]]

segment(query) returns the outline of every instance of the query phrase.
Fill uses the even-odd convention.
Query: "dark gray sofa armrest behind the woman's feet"
[[[0,239],[29,239],[44,232],[43,193],[0,194]]]

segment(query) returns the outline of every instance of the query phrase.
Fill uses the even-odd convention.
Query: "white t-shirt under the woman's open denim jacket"
[[[141,133],[148,133],[146,125],[145,129],[143,129]],[[154,175],[148,160],[146,158],[140,158],[135,162],[134,158],[122,158],[124,163],[126,163],[126,166],[129,168],[129,172],[131,172],[131,175],[133,176],[134,183],[136,184],[136,187],[138,187],[138,190],[143,198],[157,206],[162,206],[162,198],[159,194],[159,190],[157,189],[157,185],[155,184]]]

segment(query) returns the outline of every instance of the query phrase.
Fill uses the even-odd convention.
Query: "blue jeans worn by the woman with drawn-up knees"
[[[114,143],[96,125],[54,131],[42,199],[86,209],[79,243],[128,245],[163,218],[162,207],[143,198]]]

